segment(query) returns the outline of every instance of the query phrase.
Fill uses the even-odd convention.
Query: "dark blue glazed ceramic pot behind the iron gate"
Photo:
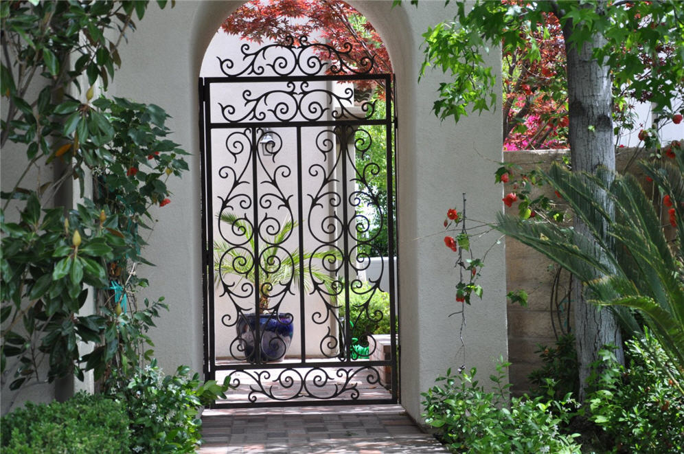
[[[238,320],[236,330],[238,341],[244,352],[244,358],[256,363],[255,331],[259,320],[259,336],[261,337],[261,363],[282,361],[292,342],[295,331],[294,317],[290,313],[282,314],[243,314]]]

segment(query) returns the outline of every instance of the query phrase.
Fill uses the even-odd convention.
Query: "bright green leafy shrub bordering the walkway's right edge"
[[[425,422],[457,453],[579,453],[578,435],[560,433],[571,416],[565,408],[570,396],[510,398],[510,384],[502,384],[509,365],[497,365],[498,375],[490,376],[496,388],[489,392],[475,381],[475,368],[457,375],[447,370],[422,394]]]

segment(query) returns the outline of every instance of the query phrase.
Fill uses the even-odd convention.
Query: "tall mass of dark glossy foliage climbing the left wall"
[[[113,79],[118,47],[146,8],[146,1],[0,5],[3,158],[20,152],[26,162],[1,194],[0,368],[3,383],[14,375],[10,389],[82,378],[85,370],[106,378],[150,357],[146,332],[166,306],[138,305],[135,290],[147,281],[135,268],[148,263],[141,249],[151,208],[170,202],[166,181],[187,169],[186,153],[167,138],[159,106],[95,96]],[[35,170],[38,181],[26,177]],[[81,198],[68,209],[60,204],[72,181]],[[93,293],[89,315],[81,309]],[[81,342],[95,344],[93,352],[82,356]]]

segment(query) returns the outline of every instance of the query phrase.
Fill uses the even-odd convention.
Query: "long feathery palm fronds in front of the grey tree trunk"
[[[671,146],[671,158],[641,163],[659,189],[665,226],[631,175],[608,175],[606,170],[591,175],[554,166],[547,181],[589,227],[591,238],[565,225],[516,216],[500,215],[496,228],[578,276],[591,292],[589,300],[611,306],[626,329],[639,333],[643,321],[670,361],[684,369],[684,152],[679,147]],[[602,194],[614,212],[604,209]],[[672,241],[663,227],[674,230]],[[604,277],[596,279],[595,270]],[[672,378],[684,395],[682,384]]]

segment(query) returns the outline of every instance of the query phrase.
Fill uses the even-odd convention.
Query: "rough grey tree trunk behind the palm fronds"
[[[615,148],[613,146],[613,95],[611,91],[610,68],[600,65],[592,57],[592,49],[604,45],[600,34],[594,34],[589,42],[578,49],[569,43],[573,32],[571,21],[566,23],[565,36],[567,53],[568,107],[570,117],[569,144],[572,168],[575,172],[595,172],[603,166],[615,170]],[[612,204],[603,194],[604,207],[613,211]],[[585,225],[574,221],[578,233],[588,236]],[[573,288],[573,310],[575,313],[575,338],[577,339],[580,363],[580,401],[586,396],[586,380],[589,365],[597,360],[597,352],[603,345],[616,345],[615,352],[620,362],[624,361],[622,336],[617,319],[607,309],[600,310],[584,299],[582,283],[575,279]]]

